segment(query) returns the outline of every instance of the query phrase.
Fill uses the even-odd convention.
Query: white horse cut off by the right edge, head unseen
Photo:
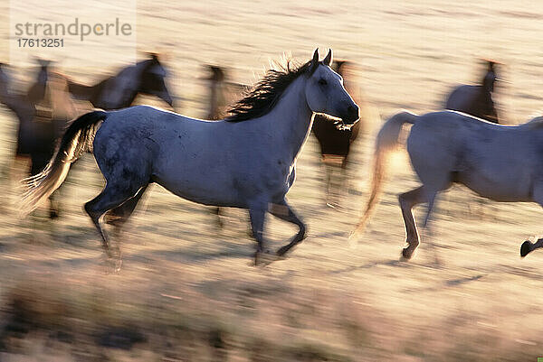
[[[392,116],[376,139],[373,185],[367,208],[355,232],[363,230],[378,199],[385,175],[386,153],[393,149],[404,124],[412,124],[407,152],[423,186],[402,193],[400,207],[405,221],[409,259],[419,245],[412,209],[427,203],[424,226],[438,192],[453,182],[462,183],[483,198],[495,201],[533,201],[543,206],[543,117],[524,125],[495,125],[454,111],[416,116],[402,112]],[[520,255],[543,246],[525,241]]]

